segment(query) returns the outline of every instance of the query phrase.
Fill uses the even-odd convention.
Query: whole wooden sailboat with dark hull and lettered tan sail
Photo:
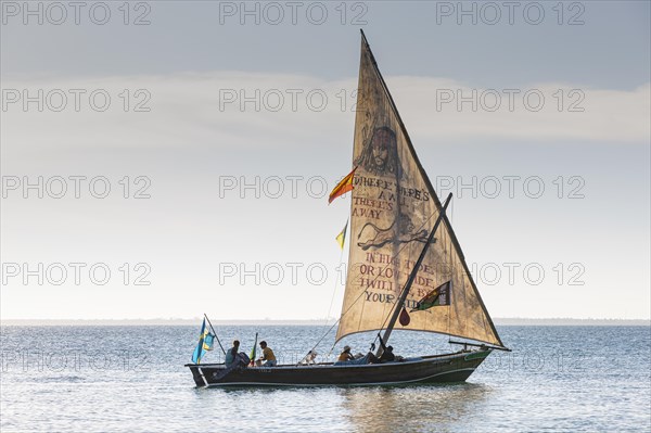
[[[460,382],[495,349],[509,351],[480,296],[446,209],[420,164],[361,31],[350,178],[348,272],[336,342],[379,331],[362,361],[276,367],[188,364],[197,386],[323,386]],[[459,351],[371,364],[394,329],[463,341]]]

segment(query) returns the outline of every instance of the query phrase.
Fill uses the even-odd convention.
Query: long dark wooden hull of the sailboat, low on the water
[[[490,349],[408,358],[401,362],[239,368],[188,364],[197,386],[329,386],[462,382]]]

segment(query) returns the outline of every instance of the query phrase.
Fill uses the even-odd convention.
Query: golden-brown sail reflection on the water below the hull
[[[457,383],[341,389],[339,394],[344,398],[345,417],[356,431],[449,431],[476,412],[490,387]]]

